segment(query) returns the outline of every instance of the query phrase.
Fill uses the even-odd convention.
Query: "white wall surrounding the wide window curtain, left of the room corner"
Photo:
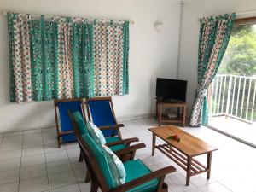
[[[7,22],[3,11],[134,20],[130,34],[130,94],[114,96],[118,117],[154,110],[156,77],[175,78],[180,5],[174,0],[0,0],[0,132],[55,125],[53,102],[9,102]],[[162,32],[154,30],[160,20]]]

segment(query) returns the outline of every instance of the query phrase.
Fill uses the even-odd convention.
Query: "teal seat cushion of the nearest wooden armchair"
[[[143,164],[141,160],[129,160],[124,163],[126,178],[125,183],[130,182],[138,177],[143,177],[147,175],[151,171],[147,166]],[[157,189],[158,179],[154,179],[149,181],[148,183],[143,183],[140,186],[137,186],[134,189],[130,189],[127,192],[153,192]]]

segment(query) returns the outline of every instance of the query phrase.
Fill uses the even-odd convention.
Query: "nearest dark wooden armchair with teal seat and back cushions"
[[[69,114],[72,119],[73,127],[79,143],[79,147],[81,148],[82,154],[84,156],[84,160],[90,172],[90,178],[91,178],[90,192],[96,192],[98,188],[102,189],[102,192],[125,192],[125,191],[134,191],[134,189],[136,189],[137,192],[144,192],[144,191],[167,192],[168,191],[168,186],[166,185],[166,183],[164,183],[164,179],[166,177],[166,174],[175,172],[176,169],[173,166],[167,166],[160,170],[151,172],[149,171],[148,167],[145,166],[140,160],[126,161],[124,163],[125,172],[126,172],[125,183],[120,184],[119,186],[109,187],[108,177],[111,177],[111,176],[109,175],[109,172],[105,172],[104,170],[102,170],[101,165],[98,163],[99,160],[97,158],[100,158],[100,157],[98,155],[96,156],[96,150],[91,147],[91,142],[93,141],[90,140],[89,142],[87,140],[84,140],[84,138],[78,134],[79,132],[78,125],[73,119],[73,114],[71,113]]]

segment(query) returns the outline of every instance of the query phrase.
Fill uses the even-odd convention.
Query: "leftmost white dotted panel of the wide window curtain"
[[[8,17],[12,22],[9,23],[10,98],[16,102],[32,101],[29,20],[29,15]]]

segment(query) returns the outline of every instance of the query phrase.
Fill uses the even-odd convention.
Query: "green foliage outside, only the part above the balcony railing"
[[[218,74],[256,74],[256,25],[234,26]]]

